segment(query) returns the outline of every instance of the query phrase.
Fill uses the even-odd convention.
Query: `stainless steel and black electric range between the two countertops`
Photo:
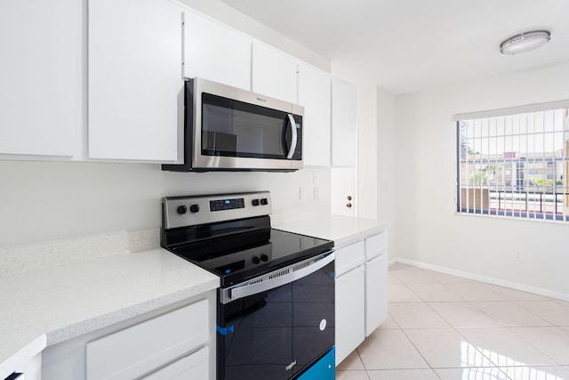
[[[163,198],[161,245],[220,276],[217,378],[333,379],[333,241],[270,226],[268,191]]]

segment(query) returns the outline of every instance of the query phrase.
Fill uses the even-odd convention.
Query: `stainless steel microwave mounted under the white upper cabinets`
[[[185,82],[183,164],[163,170],[301,169],[304,108],[202,78]]]

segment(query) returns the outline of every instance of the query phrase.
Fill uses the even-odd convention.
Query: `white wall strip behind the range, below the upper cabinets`
[[[318,199],[300,199],[300,188]],[[159,165],[0,161],[0,247],[159,228],[164,196],[269,190],[273,222],[330,209],[329,169],[170,173]],[[314,191],[311,192],[314,194]]]

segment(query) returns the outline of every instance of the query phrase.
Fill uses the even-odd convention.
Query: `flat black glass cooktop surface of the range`
[[[221,287],[230,287],[332,247],[331,240],[271,228],[252,228],[166,249],[219,275]]]

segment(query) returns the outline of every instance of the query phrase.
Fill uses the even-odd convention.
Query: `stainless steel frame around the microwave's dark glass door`
[[[284,160],[284,159],[271,159],[271,158],[241,158],[241,157],[212,157],[201,155],[201,142],[202,142],[202,107],[201,99],[202,93],[212,93],[214,95],[223,96],[228,99],[236,101],[244,101],[246,103],[255,104],[269,109],[278,109],[287,113],[304,116],[304,107],[289,103],[288,101],[281,101],[268,96],[260,95],[242,90],[240,88],[232,87],[229,85],[221,85],[202,78],[194,79],[194,147],[192,166],[195,168],[248,168],[248,169],[284,169],[295,170],[301,169],[303,166],[301,160]],[[294,126],[294,124],[293,124]],[[296,131],[295,131],[296,132]],[[294,151],[294,150],[293,150]]]

